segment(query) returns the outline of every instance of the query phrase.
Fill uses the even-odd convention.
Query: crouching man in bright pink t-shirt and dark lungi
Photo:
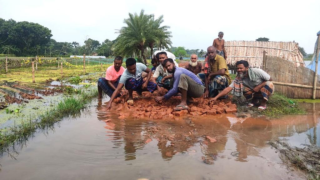
[[[113,65],[109,66],[106,71],[106,78],[99,78],[98,80],[98,100],[101,101],[102,91],[105,92],[109,97],[116,90],[119,84],[120,77],[124,72],[124,67],[122,65],[122,57],[116,56],[113,61]],[[117,97],[120,97],[122,92],[120,92]]]

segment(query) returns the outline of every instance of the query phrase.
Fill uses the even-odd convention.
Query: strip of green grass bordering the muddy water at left
[[[45,129],[64,117],[80,112],[88,107],[92,98],[97,95],[97,89],[83,90],[81,94],[66,97],[56,107],[45,111],[34,121],[32,120],[34,118],[30,117],[28,120],[22,121],[20,125],[0,129],[0,153],[8,151],[9,147],[14,146],[15,143],[24,142],[36,129]]]

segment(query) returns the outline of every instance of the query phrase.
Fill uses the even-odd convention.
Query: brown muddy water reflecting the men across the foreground
[[[280,119],[179,120],[119,120],[116,113],[91,107],[47,134],[36,133],[16,149],[19,155],[12,152],[16,160],[4,154],[0,179],[306,179],[266,143],[320,146],[319,111]]]

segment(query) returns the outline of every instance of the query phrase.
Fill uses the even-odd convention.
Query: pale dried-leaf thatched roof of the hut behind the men
[[[263,51],[266,55],[291,61],[296,67],[305,66],[299,45],[295,42],[272,41],[226,41],[227,64],[235,66],[236,61],[246,60],[254,68],[262,67]]]

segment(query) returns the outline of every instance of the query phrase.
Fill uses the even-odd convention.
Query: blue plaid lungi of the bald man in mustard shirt
[[[204,74],[199,73],[197,74],[197,77],[200,78],[204,84]],[[215,97],[218,93],[217,91],[222,91],[226,87],[228,87],[228,80],[226,77],[218,75],[218,76],[215,76],[214,78],[211,78],[208,84],[210,97]]]

